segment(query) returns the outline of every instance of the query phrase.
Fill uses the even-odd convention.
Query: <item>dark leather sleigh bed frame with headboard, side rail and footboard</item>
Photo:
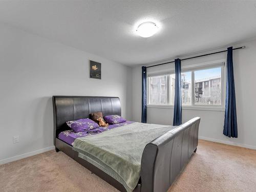
[[[54,145],[56,152],[62,151],[88,168],[120,191],[126,191],[121,183],[102,170],[78,157],[71,145],[58,139],[58,134],[69,130],[66,121],[87,118],[92,112],[102,111],[105,115],[121,115],[118,97],[53,96]],[[175,131],[148,143],[141,160],[140,180],[134,192],[164,192],[174,182],[198,145],[200,118],[196,117],[180,125]]]

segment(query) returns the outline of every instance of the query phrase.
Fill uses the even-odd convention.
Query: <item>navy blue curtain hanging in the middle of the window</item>
[[[180,59],[175,59],[175,97],[174,97],[174,120],[173,125],[177,126],[181,124],[181,65]]]

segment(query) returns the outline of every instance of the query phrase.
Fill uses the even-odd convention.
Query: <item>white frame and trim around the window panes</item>
[[[206,70],[212,68],[221,67],[221,105],[207,105],[207,104],[195,104],[195,71]],[[182,105],[184,110],[206,110],[206,111],[225,111],[225,94],[226,94],[226,59],[210,61],[199,63],[197,65],[184,66],[181,69],[181,73],[191,72],[191,105]],[[161,75],[172,75],[175,74],[175,70],[161,70],[153,71],[147,74],[147,88],[149,88],[149,78],[153,76]],[[148,76],[150,75],[150,76]],[[167,101],[169,103],[169,82],[167,82]],[[150,104],[150,90],[147,89],[147,107],[148,108],[164,108],[164,109],[173,109],[174,105],[172,104]]]

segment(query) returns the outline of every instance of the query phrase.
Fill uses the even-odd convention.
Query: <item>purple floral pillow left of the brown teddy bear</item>
[[[89,118],[67,121],[66,123],[75,132],[89,131],[99,127],[98,123]]]

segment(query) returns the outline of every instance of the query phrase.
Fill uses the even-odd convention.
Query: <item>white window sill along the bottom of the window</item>
[[[147,108],[174,109],[174,105],[150,104]],[[225,111],[225,108],[214,106],[182,106],[182,110],[199,110],[199,111]]]

